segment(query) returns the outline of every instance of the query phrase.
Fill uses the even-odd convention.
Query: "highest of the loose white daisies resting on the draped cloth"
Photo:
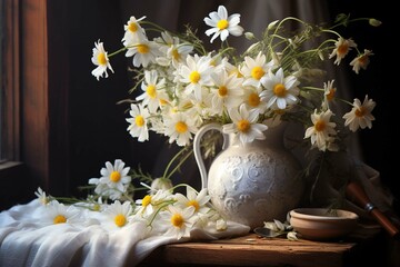
[[[109,196],[118,199],[127,191],[131,177],[128,176],[130,167],[124,168],[124,162],[116,159],[114,165],[106,162],[106,168],[101,168],[101,178],[89,179],[89,185],[96,185],[94,192],[100,196]]]

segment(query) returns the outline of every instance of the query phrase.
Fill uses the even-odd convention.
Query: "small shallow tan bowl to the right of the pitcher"
[[[348,210],[327,208],[298,208],[289,215],[293,229],[311,240],[341,238],[356,229],[359,218]]]

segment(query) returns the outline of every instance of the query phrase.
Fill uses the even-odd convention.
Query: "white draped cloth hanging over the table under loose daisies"
[[[118,230],[102,227],[98,211],[81,208],[82,224],[43,225],[44,206],[38,199],[0,212],[0,266],[136,266],[161,245],[212,240],[249,233],[244,225],[228,221],[216,227],[193,228],[190,237],[152,234],[144,224],[129,224]]]

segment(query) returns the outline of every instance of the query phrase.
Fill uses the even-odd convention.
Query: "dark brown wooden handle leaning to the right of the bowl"
[[[350,200],[353,200],[360,207],[366,209],[369,214],[376,218],[376,220],[394,238],[400,238],[399,229],[389,220],[389,218],[382,214],[369,199],[366,191],[361,186],[354,181],[349,182],[346,188],[346,195]]]

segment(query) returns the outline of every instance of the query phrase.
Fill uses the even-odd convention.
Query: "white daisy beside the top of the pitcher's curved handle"
[[[169,142],[177,142],[178,146],[187,146],[192,139],[192,135],[198,131],[192,118],[184,112],[172,113],[164,118],[166,135]]]

